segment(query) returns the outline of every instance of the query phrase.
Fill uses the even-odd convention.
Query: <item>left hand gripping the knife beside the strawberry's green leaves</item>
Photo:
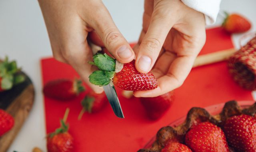
[[[101,0],[38,0],[44,16],[54,58],[70,64],[96,92],[103,89],[89,82],[95,66],[87,42],[88,32],[100,36],[110,54],[121,63],[134,59],[132,48],[119,32]]]

